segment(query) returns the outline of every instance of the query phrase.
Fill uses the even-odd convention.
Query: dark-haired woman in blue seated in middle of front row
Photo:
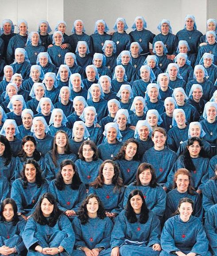
[[[74,256],[110,256],[110,240],[113,224],[105,215],[105,209],[96,194],[90,194],[82,202],[78,216],[74,219]]]

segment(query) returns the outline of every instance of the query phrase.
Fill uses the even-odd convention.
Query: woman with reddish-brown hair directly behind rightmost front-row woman
[[[194,202],[194,216],[202,220],[203,209],[202,199],[191,186],[191,174],[185,168],[180,168],[175,172],[173,189],[167,193],[167,204],[165,219],[171,217],[178,207],[178,202],[182,198],[190,198]]]

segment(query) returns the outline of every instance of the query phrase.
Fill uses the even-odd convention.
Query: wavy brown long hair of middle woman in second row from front
[[[97,176],[97,178],[95,179],[94,182],[90,183],[90,186],[93,186],[95,188],[98,187],[102,187],[104,185],[104,177],[103,177],[103,168],[105,166],[106,163],[111,163],[113,168],[114,168],[114,176],[112,178],[112,184],[114,184],[114,192],[116,191],[120,191],[121,187],[124,186],[123,185],[123,180],[122,178],[120,178],[120,169],[118,167],[118,165],[112,161],[112,160],[105,160],[103,163],[101,163],[100,169],[99,169],[99,175]]]

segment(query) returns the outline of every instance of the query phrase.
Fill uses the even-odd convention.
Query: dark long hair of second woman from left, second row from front
[[[60,170],[58,171],[58,174],[57,174],[57,177],[56,177],[55,186],[57,187],[58,190],[64,190],[65,189],[66,184],[63,181],[61,171],[62,171],[62,168],[66,165],[71,165],[73,170],[74,170],[72,183],[70,185],[71,189],[78,190],[79,186],[81,185],[81,179],[79,178],[79,175],[78,175],[77,171],[75,170],[75,164],[70,159],[65,159],[60,163]]]

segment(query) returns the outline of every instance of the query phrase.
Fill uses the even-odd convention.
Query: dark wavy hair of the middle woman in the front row
[[[85,225],[89,220],[89,216],[87,213],[87,204],[90,198],[97,198],[97,202],[99,204],[99,209],[97,210],[97,217],[99,217],[100,219],[104,219],[106,217],[105,209],[100,198],[96,194],[89,194],[82,202],[78,211],[78,218],[80,219],[82,225]]]

